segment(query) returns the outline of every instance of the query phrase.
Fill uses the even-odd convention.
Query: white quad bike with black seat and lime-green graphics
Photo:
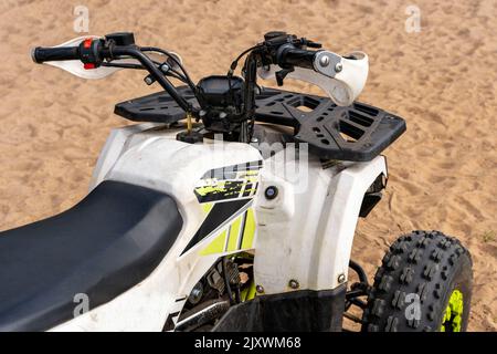
[[[472,261],[456,239],[401,236],[372,285],[350,260],[405,122],[356,102],[364,53],[320,46],[269,32],[197,84],[133,33],[34,49],[84,79],[145,70],[163,91],[116,105],[141,123],[113,131],[81,202],[0,235],[0,330],[341,331],[343,316],[363,331],[466,330]]]

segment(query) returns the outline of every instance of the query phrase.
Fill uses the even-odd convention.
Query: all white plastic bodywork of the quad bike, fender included
[[[178,132],[150,123],[113,131],[91,183],[93,189],[106,179],[120,180],[172,196],[183,218],[176,242],[142,282],[95,309],[89,300],[88,312],[52,331],[161,331],[168,317],[176,323],[192,288],[212,264],[221,256],[244,250],[224,246],[218,253],[204,252],[220,233],[230,233],[234,216],[183,252],[207,216],[194,190],[207,171],[248,162],[264,160],[256,195],[247,205],[256,226],[250,244],[255,283],[273,294],[294,291],[289,280],[296,280],[299,290],[335,289],[346,281],[362,198],[379,175],[387,176],[384,157],[325,168],[309,156],[303,184],[303,178],[287,176],[294,165],[282,158],[285,150],[264,159],[247,144],[191,145],[176,140]],[[265,198],[268,186],[278,188],[275,199]]]

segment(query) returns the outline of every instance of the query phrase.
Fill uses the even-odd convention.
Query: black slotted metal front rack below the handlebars
[[[189,87],[178,91],[198,105]],[[359,102],[340,107],[328,97],[262,87],[255,104],[255,121],[293,127],[295,142],[307,143],[309,153],[322,159],[371,160],[406,128],[401,117]],[[184,118],[166,92],[118,103],[115,113],[135,122],[170,124]]]

